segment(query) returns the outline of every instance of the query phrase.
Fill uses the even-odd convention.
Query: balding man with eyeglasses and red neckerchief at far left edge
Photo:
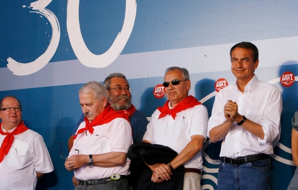
[[[54,170],[40,134],[22,121],[21,102],[15,96],[0,100],[0,189],[33,190],[37,180]]]

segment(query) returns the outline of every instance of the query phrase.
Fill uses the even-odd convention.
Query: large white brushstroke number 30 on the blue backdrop
[[[60,39],[59,21],[51,10],[45,8],[51,1],[52,0],[39,0],[30,4],[30,7],[32,8],[32,11],[30,12],[43,15],[51,24],[52,37],[49,46],[41,56],[30,63],[24,64],[15,61],[11,57],[7,58],[7,67],[14,75],[30,75],[39,71],[51,60],[57,50]],[[67,1],[66,27],[72,49],[83,65],[93,68],[106,67],[120,55],[131,35],[136,18],[136,0],[126,0],[125,17],[122,29],[118,33],[111,47],[101,55],[91,53],[83,40],[79,22],[79,3],[79,0]]]

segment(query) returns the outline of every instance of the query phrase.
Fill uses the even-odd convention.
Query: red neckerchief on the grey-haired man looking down
[[[87,117],[85,116],[84,120],[86,123],[86,127],[78,130],[77,134],[74,136],[73,139],[75,140],[77,138],[78,134],[81,134],[81,133],[85,132],[86,130],[88,130],[92,134],[94,131],[94,129],[93,129],[94,126],[109,123],[115,118],[124,118],[129,122],[127,111],[125,111],[125,110],[115,111],[111,107],[111,104],[108,103],[107,106],[105,107],[105,109],[103,110],[103,112],[100,113],[96,118],[94,118],[94,120],[91,121],[90,123],[89,123],[89,120],[87,119]]]

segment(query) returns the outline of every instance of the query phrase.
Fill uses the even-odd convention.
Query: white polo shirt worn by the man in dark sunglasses
[[[202,135],[205,139],[207,138],[208,113],[205,106],[196,105],[183,110],[177,113],[175,120],[171,115],[158,119],[160,113],[159,110],[155,110],[152,114],[143,140],[147,140],[151,144],[168,146],[179,154],[190,142],[191,136]],[[185,168],[202,170],[202,163],[203,159],[201,151],[199,151],[183,165]]]

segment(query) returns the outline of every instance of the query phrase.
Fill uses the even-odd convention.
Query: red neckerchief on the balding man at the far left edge
[[[2,123],[0,123],[0,125],[2,125]],[[24,122],[23,121],[11,133],[3,132],[0,129],[0,134],[7,135],[4,138],[4,140],[2,142],[2,145],[1,145],[1,148],[0,148],[0,163],[4,159],[4,156],[6,156],[8,154],[8,152],[9,152],[10,147],[13,144],[13,141],[15,140],[15,136],[14,135],[21,134],[22,132],[26,131],[27,129],[28,128],[24,125]]]

